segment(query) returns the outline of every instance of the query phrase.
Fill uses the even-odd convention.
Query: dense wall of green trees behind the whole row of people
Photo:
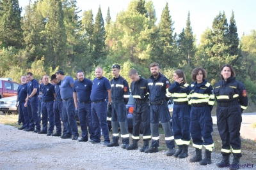
[[[102,7],[96,16],[88,10],[80,18],[76,4],[76,0],[29,1],[20,17],[18,0],[0,0],[0,77],[19,81],[28,71],[40,78],[58,69],[75,77],[81,69],[92,80],[95,67],[102,66],[104,76],[111,79],[111,66],[120,64],[121,75],[131,83],[131,68],[148,78],[148,66],[156,61],[171,81],[173,71],[183,69],[191,83],[193,68],[204,67],[207,80],[215,85],[220,67],[228,63],[246,85],[250,101],[256,101],[256,31],[239,39],[234,11],[229,22],[224,11],[218,13],[196,43],[189,11],[184,29],[175,32],[172,4],[166,3],[159,23],[152,1],[132,0],[116,20],[111,20],[108,8],[105,23]]]

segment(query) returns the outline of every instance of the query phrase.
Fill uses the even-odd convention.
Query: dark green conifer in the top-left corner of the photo
[[[18,0],[0,1],[0,41],[2,46],[22,47],[22,29]]]

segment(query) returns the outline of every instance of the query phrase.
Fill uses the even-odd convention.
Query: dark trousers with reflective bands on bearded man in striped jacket
[[[159,121],[164,129],[165,143],[167,148],[175,148],[172,126],[170,124],[171,115],[166,101],[163,104],[150,104],[150,128],[152,133],[151,147],[159,146]]]

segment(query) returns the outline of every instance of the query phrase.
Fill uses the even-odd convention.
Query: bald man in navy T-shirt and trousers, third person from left
[[[47,134],[51,136],[54,129],[54,114],[53,114],[53,103],[55,99],[54,86],[49,83],[49,76],[43,76],[43,83],[40,85],[40,92],[42,92],[42,131],[37,132],[38,134]],[[49,129],[47,130],[49,121]]]

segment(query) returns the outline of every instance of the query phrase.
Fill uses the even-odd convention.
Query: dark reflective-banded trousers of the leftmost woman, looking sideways
[[[190,109],[188,104],[174,104],[172,114],[172,128],[173,136],[177,145],[189,145],[189,122]]]

